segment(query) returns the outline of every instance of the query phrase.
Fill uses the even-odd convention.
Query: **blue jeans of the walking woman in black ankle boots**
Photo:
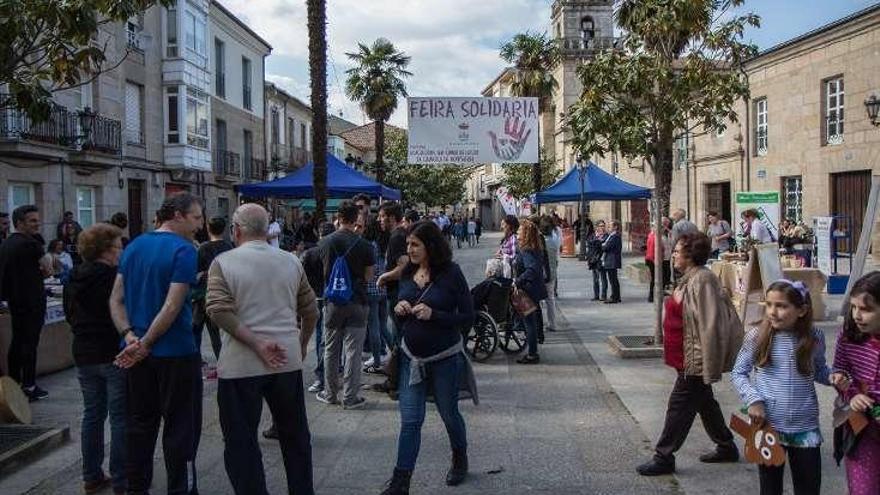
[[[425,378],[417,385],[409,384],[409,358],[400,355],[400,437],[397,441],[397,469],[412,471],[416,467],[425,422],[425,399],[434,395],[437,412],[446,426],[453,449],[467,448],[464,418],[458,411],[458,388],[464,356],[456,354],[425,366]]]

